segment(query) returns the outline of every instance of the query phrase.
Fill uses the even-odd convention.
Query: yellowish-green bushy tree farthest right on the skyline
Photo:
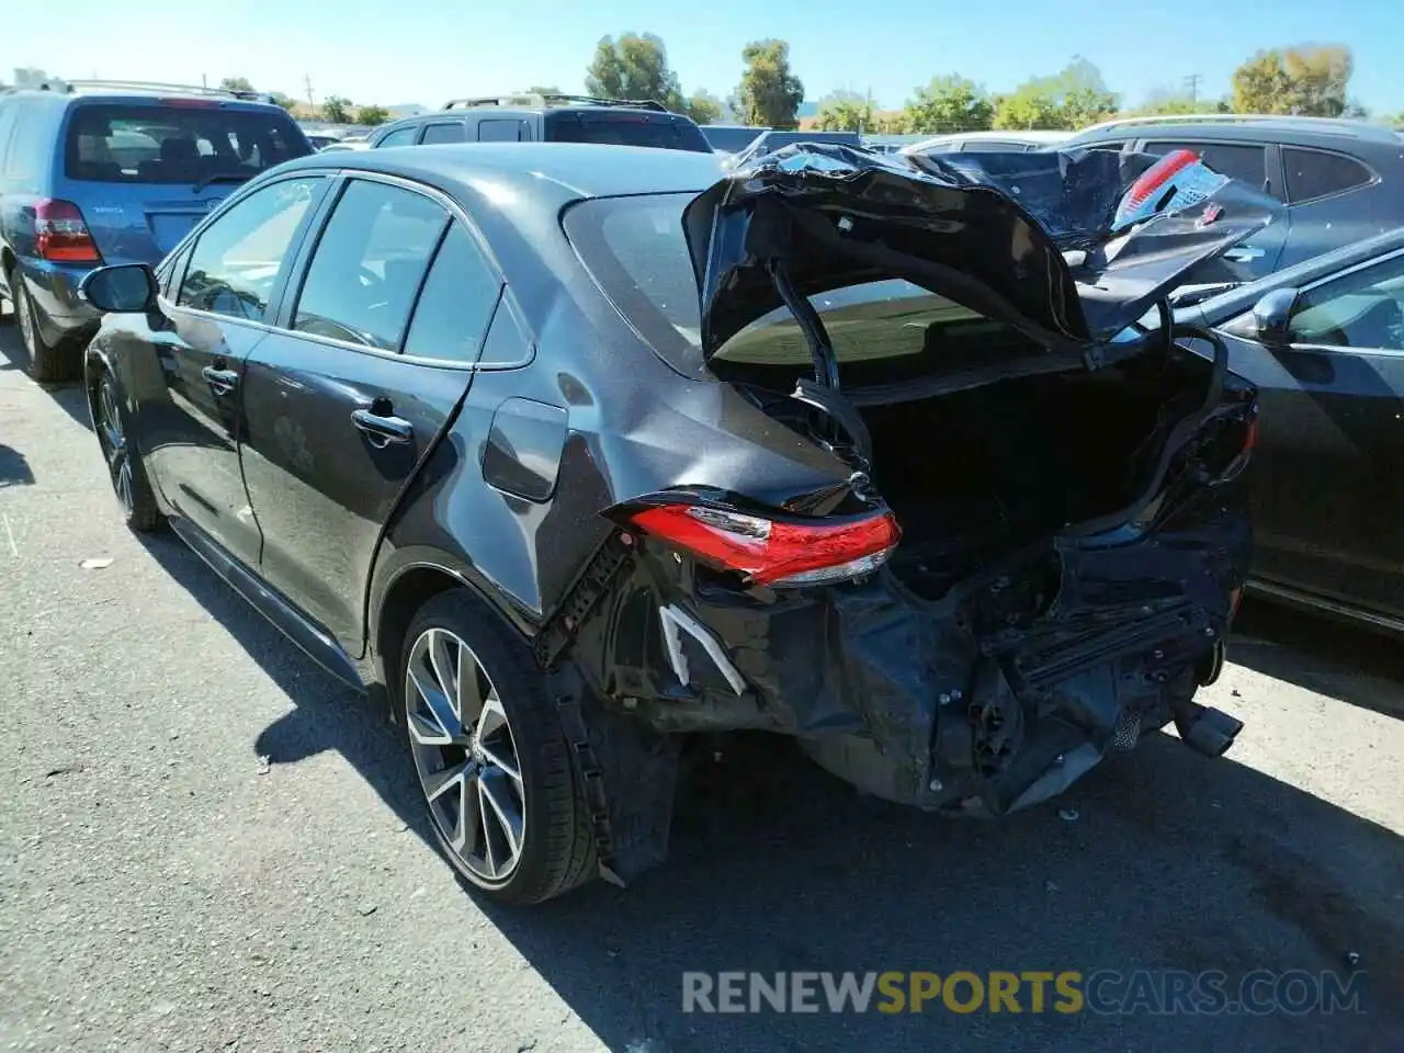
[[[1233,74],[1233,108],[1240,114],[1341,117],[1355,59],[1339,44],[1259,51]]]

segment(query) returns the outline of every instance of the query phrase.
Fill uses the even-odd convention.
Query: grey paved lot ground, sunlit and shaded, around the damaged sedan
[[[84,560],[111,560],[84,569]],[[1250,608],[1170,736],[952,824],[740,739],[668,863],[529,913],[427,841],[385,713],[121,522],[74,388],[0,329],[0,1049],[1404,1047],[1404,660]],[[265,758],[265,760],[261,760]],[[1071,812],[1075,809],[1075,817]],[[1345,969],[1363,1014],[685,1015],[684,970]]]

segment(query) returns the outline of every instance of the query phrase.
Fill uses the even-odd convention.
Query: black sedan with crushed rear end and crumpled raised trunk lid
[[[661,859],[688,733],[981,814],[1171,722],[1223,753],[1255,395],[1164,298],[1272,202],[1189,156],[643,153],[313,156],[95,271],[128,521],[388,687],[504,900]]]

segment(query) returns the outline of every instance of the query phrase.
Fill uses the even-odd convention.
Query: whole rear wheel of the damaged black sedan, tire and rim
[[[588,812],[525,644],[452,590],[414,618],[399,670],[414,768],[453,868],[507,903],[541,903],[587,880]]]

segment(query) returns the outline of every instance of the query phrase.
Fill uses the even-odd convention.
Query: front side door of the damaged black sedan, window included
[[[166,323],[150,337],[160,378],[143,388],[160,395],[142,404],[142,442],[156,484],[180,517],[250,566],[260,535],[239,469],[240,380],[326,184],[278,180],[211,222],[181,257]]]

